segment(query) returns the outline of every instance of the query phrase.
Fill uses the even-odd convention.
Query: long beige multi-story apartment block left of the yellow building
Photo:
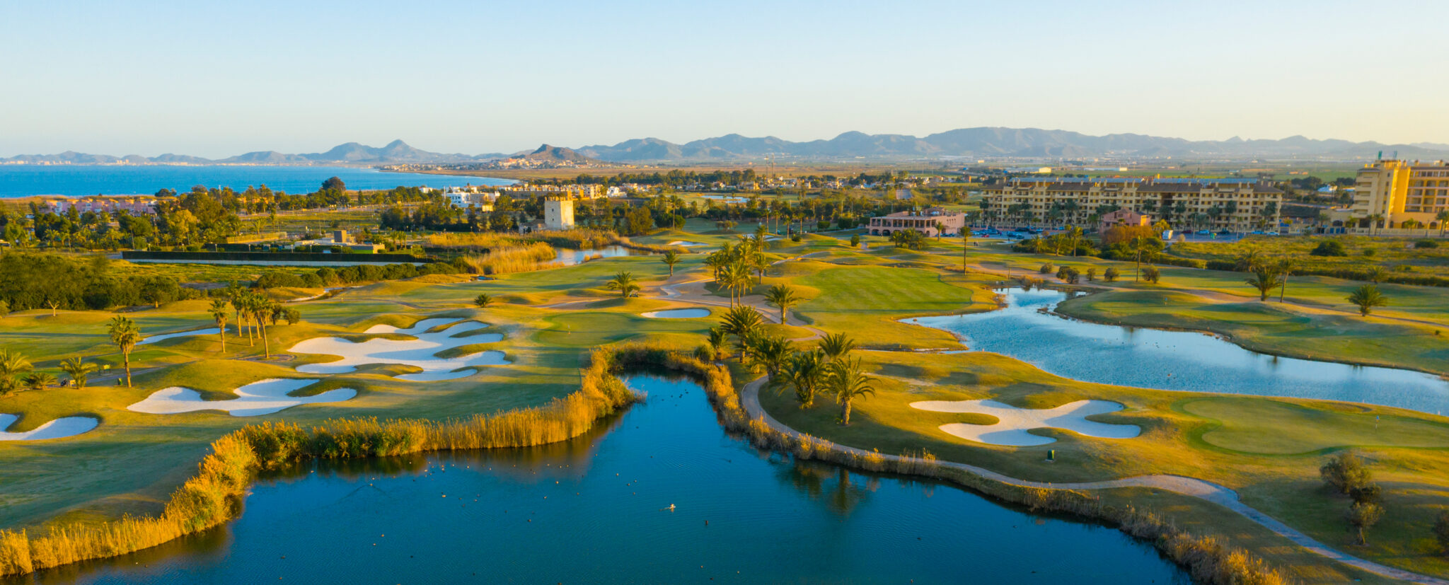
[[[1282,191],[1252,178],[1016,178],[985,188],[993,223],[1091,226],[1116,210],[1178,229],[1248,232],[1278,226]]]

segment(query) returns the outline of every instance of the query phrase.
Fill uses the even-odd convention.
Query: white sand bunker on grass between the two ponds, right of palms
[[[1093,414],[1116,413],[1122,404],[1107,400],[1078,400],[1056,408],[1017,408],[994,400],[927,400],[910,403],[911,408],[936,413],[980,413],[997,417],[995,424],[942,424],[940,430],[966,440],[990,445],[1026,447],[1056,442],[1052,437],[1027,433],[1029,429],[1066,429],[1088,437],[1132,439],[1142,433],[1136,424],[1108,424],[1087,420]]]

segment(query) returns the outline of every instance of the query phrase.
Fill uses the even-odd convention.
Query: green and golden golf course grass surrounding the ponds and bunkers
[[[68,356],[110,365],[93,374],[83,390],[51,388],[0,397],[0,413],[20,414],[9,430],[28,430],[67,416],[91,416],[88,433],[45,442],[0,442],[0,527],[39,527],[57,518],[99,520],[155,513],[184,478],[194,472],[206,445],[251,421],[317,424],[333,417],[419,417],[445,420],[511,407],[545,404],[578,385],[580,365],[591,348],[649,339],[693,350],[719,323],[727,298],[713,282],[703,287],[706,304],[668,297],[671,287],[709,278],[704,255],[749,233],[719,232],[711,222],[690,220],[682,230],[636,237],[639,243],[700,242],[669,277],[658,256],[620,256],[577,266],[498,275],[423,277],[367,284],[326,298],[296,304],[303,321],[268,327],[274,359],[261,359],[261,342],[238,337],[229,324],[226,353],[217,336],[185,336],[138,346],[132,355],[135,388],[116,385],[119,355],[104,336],[106,311],[25,311],[0,317],[0,348],[25,353],[36,368],[62,376]],[[848,236],[848,233],[846,233]],[[1240,345],[1313,359],[1407,366],[1449,372],[1449,295],[1440,288],[1384,285],[1394,304],[1364,319],[1349,313],[1342,297],[1358,282],[1327,277],[1295,277],[1285,304],[1259,303],[1242,274],[1164,266],[1158,285],[1132,282],[1130,264],[1097,258],[1022,255],[1000,245],[961,239],[927,240],[923,251],[864,237],[851,248],[832,235],[801,242],[780,240],[767,251],[774,262],[746,301],[762,306],[765,288],[787,284],[803,303],[791,308],[790,326],[767,332],[797,339],[797,348],[819,333],[845,333],[862,348],[856,355],[878,379],[875,395],[853,403],[849,427],[835,423],[839,407],[820,397],[801,410],[790,392],[765,391],[761,398],[782,423],[848,446],[898,453],[926,449],[940,459],[981,465],[1036,481],[1095,481],[1140,474],[1178,474],[1236,489],[1243,502],[1262,510],[1330,546],[1387,565],[1449,576],[1449,562],[1432,553],[1427,524],[1449,505],[1449,420],[1385,407],[1311,400],[1227,397],[1085,384],[1059,378],[993,353],[917,353],[872,349],[958,349],[949,333],[898,323],[911,316],[987,311],[995,307],[990,287],[1037,274],[1043,262],[1117,266],[1127,277],[1114,284],[1091,282],[1100,294],[1064,303],[1064,313],[1107,323],[1184,327],[1224,333]],[[965,245],[965,246],[964,246]],[[961,272],[962,258],[969,271]],[[138,269],[151,269],[141,266]],[[245,268],[245,266],[238,266]],[[643,285],[639,297],[620,298],[604,287],[614,274],[632,272]],[[1084,284],[1087,285],[1087,284]],[[477,308],[480,292],[496,297]],[[667,298],[668,297],[668,298]],[[129,311],[143,334],[214,327],[207,301],[180,301]],[[704,307],[709,319],[648,319],[642,313]],[[509,363],[481,366],[458,379],[410,382],[400,365],[361,365],[343,374],[303,374],[296,368],[323,363],[325,355],[287,355],[285,349],[316,337],[361,342],[372,326],[407,327],[427,317],[477,320],[484,333],[503,339],[464,345],[448,355],[480,349],[504,353]],[[798,321],[796,321],[798,320]],[[468,332],[478,333],[478,332]],[[1069,350],[1069,349],[1068,349]],[[753,375],[738,365],[736,379]],[[316,394],[355,388],[356,397],[307,404],[274,414],[239,418],[220,411],[145,414],[126,407],[167,387],[185,387],[201,400],[226,400],[233,390],[268,378],[322,378],[303,388]],[[951,423],[988,423],[980,414],[910,408],[922,400],[991,398],[1014,407],[1045,408],[1075,400],[1110,400],[1124,410],[1090,420],[1135,424],[1132,439],[1093,439],[1061,430],[1033,430],[1056,439],[1043,446],[1011,447],[974,443],[938,429]],[[1056,460],[1046,462],[1048,449]],[[1384,521],[1369,531],[1369,546],[1349,543],[1342,510],[1346,498],[1320,487],[1317,466],[1326,455],[1358,449],[1372,462],[1385,488]],[[65,469],[65,472],[58,472]],[[1232,543],[1291,568],[1303,582],[1336,582],[1372,575],[1326,562],[1236,514],[1200,500],[1143,488],[1103,492],[1110,502],[1151,505],[1182,526],[1227,536]]]

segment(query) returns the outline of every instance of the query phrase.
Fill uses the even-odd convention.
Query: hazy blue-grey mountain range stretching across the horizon
[[[20,155],[0,162],[41,164],[259,164],[259,165],[304,165],[304,164],[404,164],[439,162],[469,164],[496,161],[509,156],[532,158],[551,162],[711,162],[788,158],[797,161],[840,161],[840,159],[922,159],[922,158],[1023,158],[1023,159],[1075,159],[1075,158],[1314,158],[1364,161],[1397,152],[1406,159],[1449,158],[1449,145],[1416,142],[1408,145],[1387,145],[1379,142],[1350,142],[1336,139],[1310,139],[1290,136],[1284,139],[1245,140],[1187,140],[1148,135],[1104,135],[1090,136],[1068,130],[1042,130],[1035,127],[964,127],[923,138],[909,135],[867,135],[846,132],[829,140],[791,142],[775,136],[749,138],[724,135],[685,143],[674,143],[658,138],[640,138],[616,145],[593,145],[577,149],[542,145],[535,151],[516,153],[442,153],[409,146],[393,140],[385,146],[367,146],[356,142],[338,145],[326,152],[284,153],[258,151],[223,159],[165,153],[159,156],[110,156],[81,152],[58,155]]]

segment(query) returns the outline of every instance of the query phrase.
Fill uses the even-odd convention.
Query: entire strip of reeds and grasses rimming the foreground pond
[[[606,416],[642,400],[617,378],[635,368],[664,368],[694,378],[716,408],[727,433],[742,434],[758,449],[814,459],[869,472],[946,481],[1032,511],[1065,513],[1101,521],[1152,543],[1184,566],[1194,581],[1208,584],[1287,584],[1278,571],[1219,537],[1193,536],[1153,511],[1103,504],[1072,489],[1022,488],[965,471],[945,468],[929,452],[887,456],[859,455],[835,443],[771,429],[749,418],[730,371],[659,343],[630,343],[596,349],[578,391],[532,408],[514,408],[461,420],[332,418],[312,429],[288,423],[242,427],[212,443],[197,475],[172,492],[158,517],[123,517],[101,524],[52,526],[45,536],[0,530],[0,576],[26,575],[62,565],[116,557],[223,524],[241,511],[256,472],[309,459],[354,459],[417,452],[538,446],[577,437]]]

